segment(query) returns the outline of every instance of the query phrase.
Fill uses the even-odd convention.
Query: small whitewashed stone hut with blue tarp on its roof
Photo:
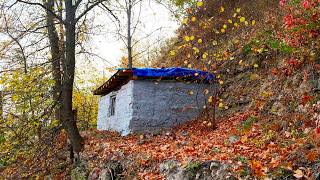
[[[206,107],[214,81],[214,74],[194,69],[119,69],[94,91],[100,95],[97,129],[127,135],[195,119]]]

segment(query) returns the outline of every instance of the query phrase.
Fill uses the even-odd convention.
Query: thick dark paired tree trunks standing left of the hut
[[[48,0],[47,9],[54,12],[54,0]],[[55,117],[60,121],[70,139],[72,149],[80,152],[82,149],[82,137],[80,136],[74,115],[72,112],[72,93],[75,73],[75,7],[72,1],[65,1],[66,20],[65,41],[59,38],[55,27],[55,16],[47,10],[47,27],[52,55],[52,71],[55,81],[53,87],[53,99],[57,104]],[[61,28],[62,26],[60,26]],[[63,42],[63,43],[62,43]],[[61,72],[62,66],[62,72]]]

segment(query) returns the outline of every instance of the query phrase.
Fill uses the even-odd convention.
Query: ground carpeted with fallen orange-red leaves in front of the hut
[[[232,164],[238,177],[312,177],[320,171],[314,169],[319,164],[320,134],[308,121],[283,121],[297,116],[277,121],[248,111],[220,119],[214,130],[197,120],[158,134],[127,137],[87,131],[83,157],[89,169],[99,169],[98,164],[108,161],[125,161],[131,167],[127,173],[141,179],[164,178],[160,164],[165,160],[177,160],[182,167],[218,160]]]

